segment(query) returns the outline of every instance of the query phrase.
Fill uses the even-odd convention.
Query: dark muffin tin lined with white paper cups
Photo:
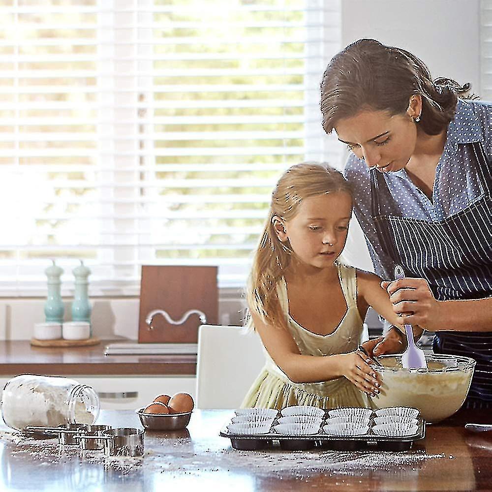
[[[391,407],[384,412],[355,407],[320,412],[314,407],[297,406],[270,412],[258,410],[236,410],[235,417],[220,431],[222,437],[231,440],[234,449],[255,451],[278,445],[290,451],[315,447],[405,451],[413,441],[425,436],[425,421],[418,409],[410,407]],[[241,425],[233,423],[238,416],[244,419]],[[295,417],[295,422],[286,422],[285,417]]]

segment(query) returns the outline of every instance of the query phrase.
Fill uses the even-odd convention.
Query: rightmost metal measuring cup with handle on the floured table
[[[96,435],[79,435],[81,440],[100,440],[104,442],[104,456],[143,456],[144,431],[123,427],[100,431]]]

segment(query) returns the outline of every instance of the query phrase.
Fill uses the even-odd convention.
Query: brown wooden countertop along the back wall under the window
[[[191,375],[196,355],[104,355],[108,343],[91,347],[32,347],[28,340],[0,342],[0,376],[30,372],[60,375]]]

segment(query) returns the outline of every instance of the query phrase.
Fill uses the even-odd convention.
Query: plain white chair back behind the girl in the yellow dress
[[[239,408],[265,365],[263,344],[241,326],[201,325],[196,366],[197,408]]]

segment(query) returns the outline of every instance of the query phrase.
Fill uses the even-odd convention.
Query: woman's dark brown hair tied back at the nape
[[[421,128],[437,135],[454,118],[460,86],[452,79],[432,80],[419,58],[374,39],[360,39],[335,55],[321,82],[323,128],[331,133],[337,122],[364,109],[405,113],[410,97],[422,97]]]

